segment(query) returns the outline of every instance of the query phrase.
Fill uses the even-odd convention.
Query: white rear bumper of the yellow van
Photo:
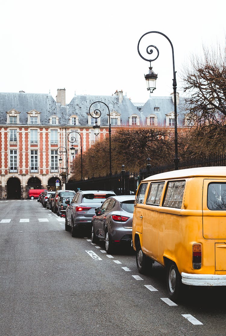
[[[182,283],[190,286],[226,286],[226,275],[181,273]]]

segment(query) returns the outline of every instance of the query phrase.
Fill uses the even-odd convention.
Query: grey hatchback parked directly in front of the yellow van
[[[112,252],[121,244],[132,241],[132,221],[135,195],[109,197],[92,218],[92,242],[104,240],[105,249]]]

